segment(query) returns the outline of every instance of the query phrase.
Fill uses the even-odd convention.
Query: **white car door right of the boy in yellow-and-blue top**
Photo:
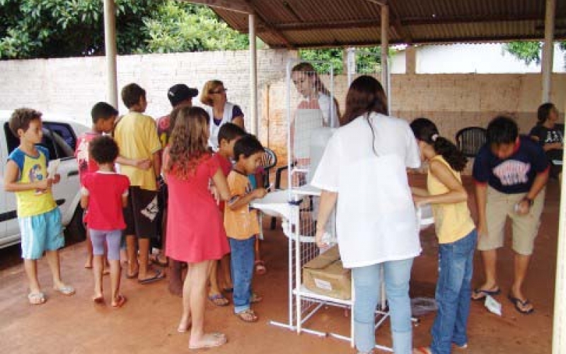
[[[62,222],[67,225],[74,214],[76,198],[79,193],[79,168],[74,157],[76,135],[66,122],[43,122],[44,145],[50,152],[50,160],[60,159],[57,173],[61,181],[53,185],[53,198],[62,214]]]

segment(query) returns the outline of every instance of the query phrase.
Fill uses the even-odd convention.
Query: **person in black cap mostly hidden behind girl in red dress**
[[[198,96],[199,91],[197,89],[192,89],[185,84],[176,84],[171,86],[167,91],[167,98],[171,102],[173,110],[175,108],[192,106],[192,98]],[[169,144],[169,139],[171,138],[171,132],[173,131],[173,126],[171,126],[171,113],[165,115],[157,120],[157,134],[159,135],[159,140],[161,141],[161,146],[163,149]],[[163,213],[161,215],[161,250],[165,250],[165,240],[166,240],[166,229],[167,229],[167,185],[161,183],[160,188],[160,202],[163,206],[161,209]],[[157,254],[154,258],[154,262],[159,265],[169,265],[169,292],[173,295],[182,296],[183,295],[183,280],[181,278],[181,263],[178,261],[171,260],[168,262],[164,254]]]

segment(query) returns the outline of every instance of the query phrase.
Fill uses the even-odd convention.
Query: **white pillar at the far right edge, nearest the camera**
[[[565,105],[566,109],[566,105]],[[564,159],[564,156],[562,156]],[[558,214],[558,250],[556,255],[556,285],[554,290],[553,354],[566,354],[566,183],[560,181]]]

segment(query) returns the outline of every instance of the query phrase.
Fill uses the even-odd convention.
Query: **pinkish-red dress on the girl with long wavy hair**
[[[169,188],[167,256],[188,263],[220,259],[230,252],[221,212],[209,192],[218,159],[203,156],[195,174],[180,179],[166,174]]]

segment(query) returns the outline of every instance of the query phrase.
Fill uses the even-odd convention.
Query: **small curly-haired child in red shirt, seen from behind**
[[[94,297],[95,303],[104,302],[102,292],[104,241],[110,260],[110,282],[112,285],[112,307],[120,308],[126,297],[120,295],[120,241],[122,229],[126,227],[122,207],[126,207],[129,180],[114,172],[118,146],[107,136],[95,137],[88,149],[98,165],[98,171],[87,173],[81,188],[81,206],[89,212],[86,215],[88,231],[94,254]]]

